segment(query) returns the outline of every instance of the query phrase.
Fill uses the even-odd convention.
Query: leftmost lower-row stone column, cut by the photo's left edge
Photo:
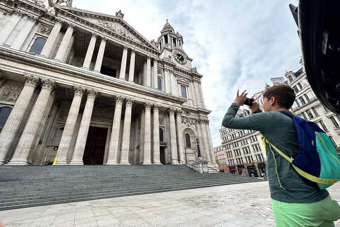
[[[0,165],[5,164],[6,156],[10,151],[11,144],[27,111],[28,105],[31,102],[37,83],[39,82],[39,78],[30,75],[24,75],[23,78],[25,80],[25,86],[0,133]]]

